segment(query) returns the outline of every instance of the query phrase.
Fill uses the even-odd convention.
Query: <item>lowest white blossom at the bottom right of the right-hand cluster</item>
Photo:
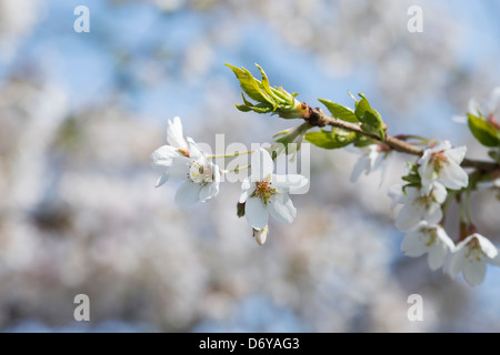
[[[484,280],[487,264],[500,265],[498,250],[487,237],[473,233],[457,244],[447,271],[453,278],[462,272],[463,278],[477,286]]]

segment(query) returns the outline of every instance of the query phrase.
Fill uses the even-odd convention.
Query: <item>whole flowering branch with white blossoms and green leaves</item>
[[[221,175],[251,168],[251,173],[241,182],[241,194],[237,204],[238,216],[246,216],[253,230],[258,244],[262,245],[269,234],[269,216],[283,223],[296,219],[297,210],[289,194],[293,189],[308,184],[308,179],[299,174],[276,174],[273,159],[279,154],[297,153],[303,140],[322,149],[339,149],[353,145],[361,156],[356,163],[351,181],[356,182],[364,172],[367,175],[381,169],[389,154],[402,151],[418,155],[416,163],[409,163],[408,174],[402,178],[404,185],[392,186],[389,196],[392,207],[401,205],[396,217],[396,226],[407,233],[401,245],[402,252],[410,257],[427,254],[429,267],[432,271],[443,267],[451,277],[460,273],[471,285],[479,285],[486,276],[487,264],[500,265],[497,247],[472,223],[469,195],[483,179],[483,171],[478,169],[467,172],[466,146],[452,146],[449,141],[430,141],[421,136],[400,135],[387,141],[387,125],[381,114],[371,106],[366,95],[359,93],[356,108],[350,109],[336,102],[318,99],[330,111],[332,118],[326,116],[320,109],[311,109],[300,103],[294,94],[288,94],[282,88],[271,88],[262,68],[259,71],[261,80],[257,80],[246,69],[228,65],[240,81],[243,92],[254,102],[246,99],[243,104],[237,104],[240,111],[278,114],[283,119],[303,119],[300,126],[279,132],[276,142],[298,144],[296,150],[256,149],[251,154],[251,164],[238,166],[233,171],[220,169],[212,160],[217,155],[203,152],[191,139],[184,139],[179,118],[168,122],[167,145],[160,146],[151,155],[153,168],[160,173],[157,186],[169,178],[181,180],[176,194],[176,202],[181,206],[190,206],[197,202],[207,202],[219,192]],[[500,146],[500,128],[496,121],[500,89],[492,95],[493,104],[484,115],[477,104],[472,104],[468,113],[468,123],[474,138],[484,146]],[[331,125],[331,130],[323,129]],[[308,132],[320,126],[320,132]],[[418,139],[426,149],[414,149],[416,143],[407,143],[408,139]],[[394,142],[394,140],[397,142]],[[351,145],[351,146],[352,146]],[[350,148],[351,148],[350,146]],[[224,158],[237,156],[224,155]],[[496,155],[497,154],[497,155]],[[498,185],[498,169],[500,151],[490,151],[496,160],[487,163],[493,166],[493,185]],[[292,158],[294,159],[294,158]],[[470,163],[470,162],[469,162]],[[471,166],[467,165],[466,166]],[[491,180],[490,179],[490,180]],[[462,201],[466,195],[467,201]],[[448,235],[444,220],[450,204],[457,201],[460,209],[460,237],[457,242]],[[467,217],[463,214],[466,205]]]

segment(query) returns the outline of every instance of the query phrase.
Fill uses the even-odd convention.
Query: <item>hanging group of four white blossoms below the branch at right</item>
[[[479,285],[484,280],[488,263],[500,265],[497,247],[474,227],[464,226],[466,233],[456,245],[442,225],[441,206],[447,199],[453,197],[449,191],[469,186],[469,175],[460,166],[466,151],[466,146],[452,148],[448,141],[432,145],[408,175],[410,183],[393,186],[389,195],[393,206],[402,205],[396,217],[396,226],[408,233],[401,245],[402,252],[411,257],[427,254],[433,271],[446,265],[448,254],[451,254],[444,271],[452,277],[462,272],[468,283]]]

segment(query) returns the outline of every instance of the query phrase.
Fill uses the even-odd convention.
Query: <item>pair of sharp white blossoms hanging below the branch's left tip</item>
[[[183,136],[179,118],[168,122],[167,143],[151,154],[152,166],[160,174],[157,187],[169,178],[182,181],[174,201],[183,207],[214,197],[219,193],[221,174],[230,171],[221,170],[212,163],[212,155],[203,152],[191,138]],[[291,189],[307,185],[308,179],[300,174],[273,173],[274,163],[263,148],[251,152],[250,166],[250,176],[241,183],[238,215],[246,215],[256,241],[262,245],[269,234],[269,216],[283,223],[293,222],[297,210],[289,193]]]

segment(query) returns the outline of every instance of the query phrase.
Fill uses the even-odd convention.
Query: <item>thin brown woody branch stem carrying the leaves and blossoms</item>
[[[420,148],[410,144],[406,141],[399,140],[394,136],[390,136],[386,133],[386,139],[381,140],[380,136],[373,133],[368,133],[361,130],[361,126],[356,123],[350,123],[341,120],[333,119],[327,114],[324,114],[321,109],[312,109],[308,106],[309,110],[306,111],[306,114],[303,115],[303,119],[308,121],[311,125],[314,126],[326,126],[331,125],[333,128],[342,129],[350,132],[356,132],[359,134],[362,134],[364,136],[368,136],[374,141],[380,142],[381,144],[384,144],[389,148],[391,148],[394,151],[407,153],[411,155],[420,156],[423,154],[423,150]],[[500,164],[496,162],[484,162],[484,161],[477,161],[471,159],[464,159],[462,161],[461,166],[463,168],[473,168],[478,171],[482,172],[499,172],[500,171]]]

